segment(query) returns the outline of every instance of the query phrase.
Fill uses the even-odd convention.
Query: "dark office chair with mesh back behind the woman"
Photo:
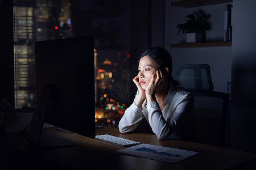
[[[212,78],[210,77],[210,66],[208,64],[181,65],[176,73],[175,80],[179,82],[179,86],[182,86],[187,91],[192,92],[194,96],[208,96],[223,99],[222,114],[220,120],[221,127],[220,133],[218,133],[218,144],[214,143],[216,141],[209,139],[209,133],[205,133],[204,131],[205,129],[207,130],[209,128],[208,125],[212,125],[212,122],[209,121],[209,117],[199,116],[199,111],[202,111],[202,108],[197,108],[197,126],[198,128],[200,128],[200,130],[198,131],[201,138],[200,142],[208,145],[224,147],[225,140],[228,139],[226,137],[226,117],[228,114],[229,94],[213,91]],[[205,118],[207,119],[207,121],[205,121]],[[207,124],[205,124],[205,122]],[[213,120],[213,122],[214,125],[216,125],[216,120]],[[212,136],[212,134],[210,135]]]

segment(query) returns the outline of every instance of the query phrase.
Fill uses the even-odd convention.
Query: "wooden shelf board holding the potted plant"
[[[208,46],[232,46],[232,41],[171,44],[171,48],[190,48],[190,47],[208,47]]]

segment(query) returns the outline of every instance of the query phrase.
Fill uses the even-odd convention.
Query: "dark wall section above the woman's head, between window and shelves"
[[[164,47],[164,1],[132,0],[130,10],[132,67],[147,48]]]

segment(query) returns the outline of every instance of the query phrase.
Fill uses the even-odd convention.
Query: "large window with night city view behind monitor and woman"
[[[96,121],[117,126],[137,90],[131,83],[137,69],[130,67],[130,1],[13,2],[15,107],[36,107],[36,41],[92,34]]]

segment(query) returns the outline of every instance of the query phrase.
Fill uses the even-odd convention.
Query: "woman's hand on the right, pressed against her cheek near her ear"
[[[165,80],[166,79],[161,70],[156,71],[156,73],[152,75],[151,81],[146,88],[147,99],[156,101],[155,93],[160,89]]]

